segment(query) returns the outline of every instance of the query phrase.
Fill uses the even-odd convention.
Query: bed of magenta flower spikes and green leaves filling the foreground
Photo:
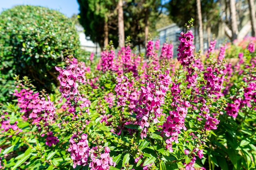
[[[188,28],[191,25],[188,25]],[[173,46],[148,41],[145,56],[112,46],[95,65],[73,56],[60,93],[16,77],[17,97],[1,115],[6,169],[252,170],[256,141],[255,44],[226,63],[226,45],[202,60],[193,33]],[[144,60],[144,58],[148,58]]]

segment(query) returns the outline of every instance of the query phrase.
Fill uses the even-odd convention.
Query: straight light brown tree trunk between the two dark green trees
[[[118,1],[118,42],[119,47],[124,47],[124,11],[123,0]]]

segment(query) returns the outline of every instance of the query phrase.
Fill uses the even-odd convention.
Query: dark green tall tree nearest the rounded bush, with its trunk
[[[80,10],[80,24],[85,28],[85,35],[100,44],[101,50],[108,45],[111,37],[118,45],[117,17],[115,0],[77,0]],[[115,36],[113,36],[115,35]]]

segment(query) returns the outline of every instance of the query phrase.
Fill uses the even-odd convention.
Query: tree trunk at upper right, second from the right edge
[[[238,26],[236,21],[236,0],[229,0],[230,7],[230,18],[231,18],[231,31],[232,31],[232,41],[237,39]]]

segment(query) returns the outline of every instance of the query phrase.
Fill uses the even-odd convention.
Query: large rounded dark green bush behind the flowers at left
[[[0,14],[0,102],[10,100],[13,75],[28,76],[37,90],[58,85],[54,66],[76,55],[79,36],[62,13],[35,6],[16,6]]]

